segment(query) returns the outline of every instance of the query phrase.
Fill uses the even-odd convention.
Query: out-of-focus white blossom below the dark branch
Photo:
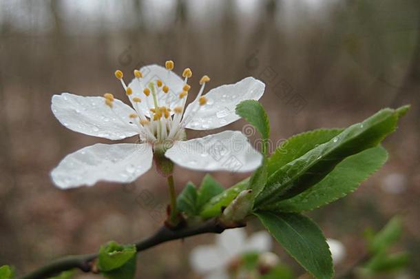
[[[229,264],[246,252],[271,250],[271,236],[259,231],[246,239],[245,229],[227,229],[216,236],[216,245],[200,245],[190,254],[191,267],[206,279],[229,278]]]

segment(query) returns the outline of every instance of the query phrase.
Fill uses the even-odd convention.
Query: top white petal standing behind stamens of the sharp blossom
[[[169,92],[164,93],[160,90],[158,94],[158,103],[159,106],[164,105],[173,109],[177,105],[182,104],[182,100],[179,99],[179,94],[182,92],[182,87],[184,86],[184,81],[175,74],[173,71],[168,71],[166,68],[160,65],[147,65],[140,69],[140,72],[143,74],[143,78],[139,79],[141,85],[139,85],[137,79],[133,79],[129,83],[128,87],[131,87],[133,90],[134,96],[140,97],[143,101],[138,104],[140,110],[147,116],[150,115],[149,108],[147,107],[146,96],[143,94],[143,89],[148,87],[150,82],[156,84],[156,80],[160,79],[164,85],[169,87]],[[142,89],[143,88],[143,89]],[[149,103],[154,107],[151,95],[149,96]]]

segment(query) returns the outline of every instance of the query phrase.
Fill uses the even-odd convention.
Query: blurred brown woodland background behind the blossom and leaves
[[[378,229],[401,214],[401,249],[413,254],[408,272],[416,278],[419,31],[416,0],[1,0],[0,265],[30,271],[58,256],[96,251],[107,240],[138,240],[160,226],[167,189],[154,171],[134,185],[98,183],[70,191],[52,185],[49,172],[65,154],[109,141],[65,129],[52,115],[50,99],[61,92],[122,96],[114,70],[129,76],[141,65],[171,59],[178,73],[193,70],[193,85],[202,74],[211,77],[209,88],[245,76],[265,81],[261,101],[273,141],[317,127],[343,127],[382,107],[411,103],[399,131],[384,143],[390,152],[386,166],[355,194],[311,216],[326,236],[348,248],[339,272],[363,253],[366,226]],[[228,128],[240,130],[244,123]],[[178,192],[203,175],[177,167]],[[214,176],[226,187],[243,177]],[[139,273],[197,278],[189,251],[212,241],[213,236],[199,236],[145,251],[138,257]],[[276,251],[297,274],[303,272],[278,246]]]

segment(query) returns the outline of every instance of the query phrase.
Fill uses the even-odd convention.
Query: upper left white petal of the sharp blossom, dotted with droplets
[[[125,103],[115,100],[112,112],[100,96],[85,97],[70,93],[52,96],[51,109],[65,127],[90,136],[123,139],[138,134],[135,124],[130,124],[129,114],[135,111]],[[120,119],[118,119],[118,117]]]

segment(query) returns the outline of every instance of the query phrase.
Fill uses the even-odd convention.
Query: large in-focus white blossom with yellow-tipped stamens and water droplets
[[[260,99],[264,83],[247,77],[204,96],[210,79],[203,76],[197,96],[185,108],[192,72],[185,69],[181,79],[172,72],[172,61],[165,66],[135,70],[136,77],[128,86],[123,73],[115,72],[132,107],[109,93],[103,97],[52,96],[52,112],[70,130],[111,140],[140,138],[140,143],[96,144],[65,156],[51,174],[58,187],[94,185],[98,180],[130,183],[150,169],[156,152],[165,152],[182,167],[202,171],[250,172],[260,166],[262,155],[241,132],[224,131],[186,141],[185,128],[211,130],[237,121],[240,116],[235,106]]]

